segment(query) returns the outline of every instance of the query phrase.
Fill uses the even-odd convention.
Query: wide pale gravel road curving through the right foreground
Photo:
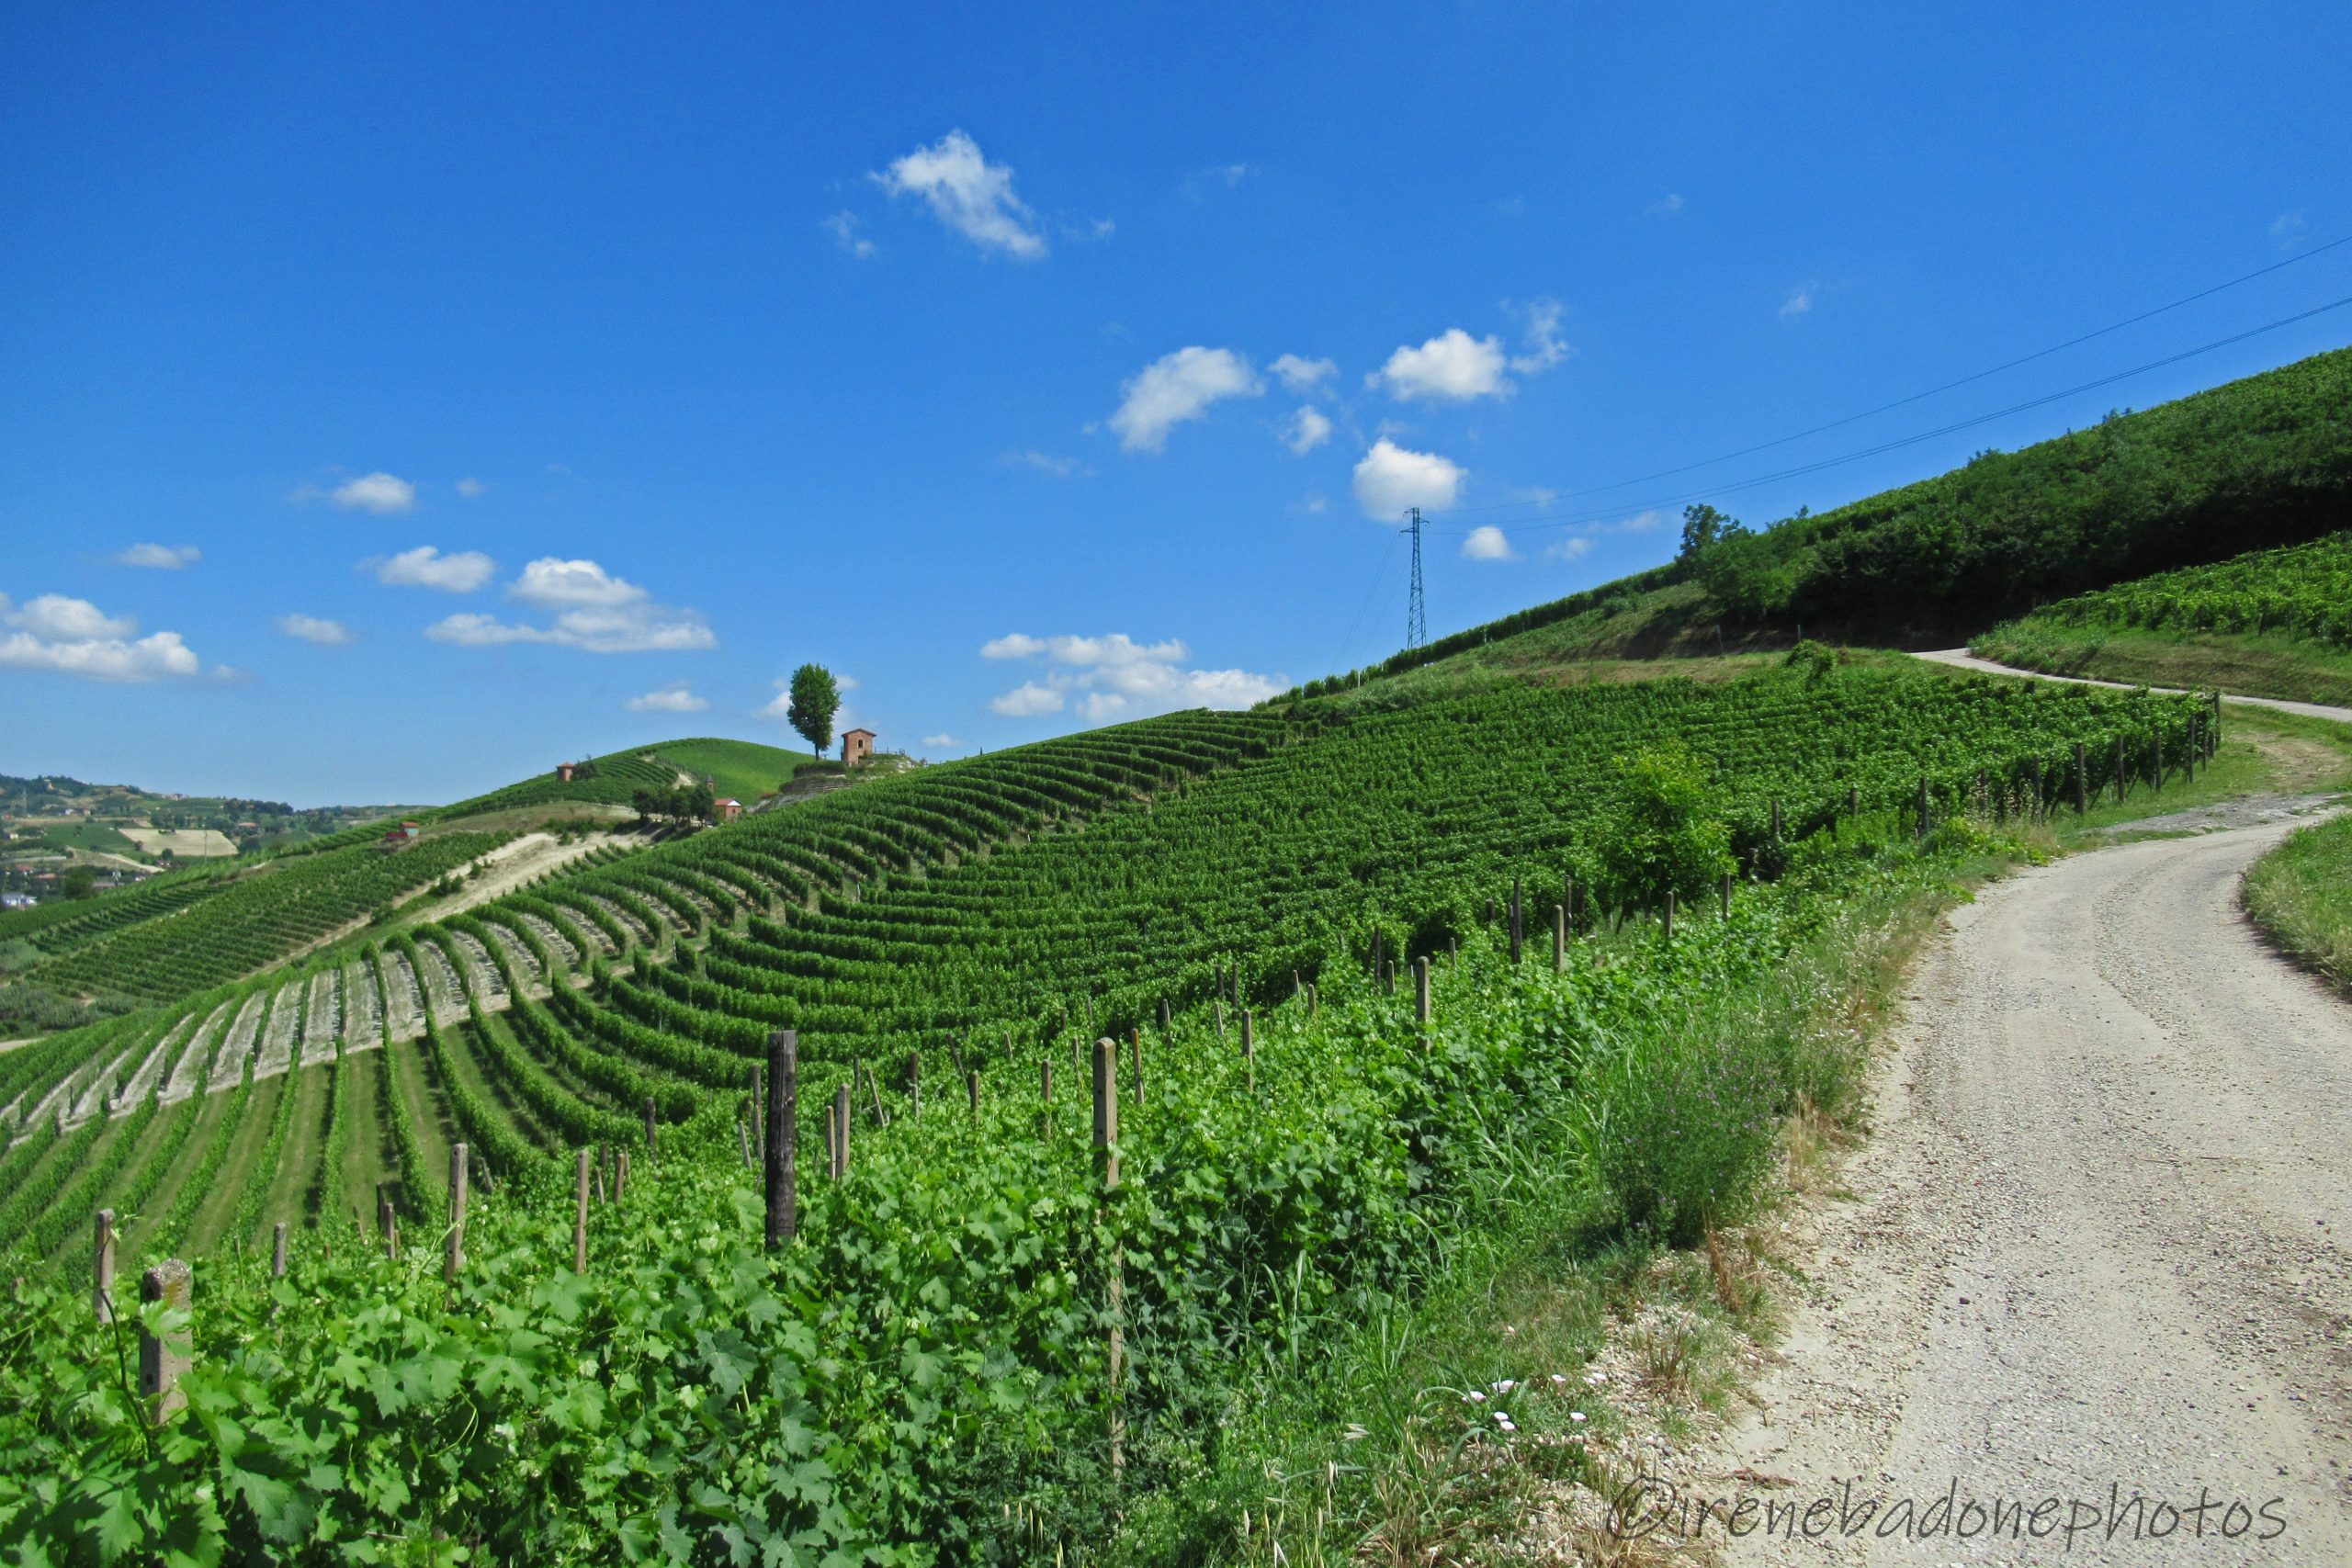
[[[1952,914],[1719,1455],[1788,1481],[1762,1497],[1950,1528],[1882,1509],[1733,1561],[2352,1563],[2352,1006],[2237,905],[2288,830],[2072,856]],[[1997,1537],[1994,1505],[2023,1505]]]

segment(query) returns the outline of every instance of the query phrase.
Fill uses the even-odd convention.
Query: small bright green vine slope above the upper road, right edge
[[[2352,534],[2060,599],[1971,646],[2056,675],[2352,703]]]

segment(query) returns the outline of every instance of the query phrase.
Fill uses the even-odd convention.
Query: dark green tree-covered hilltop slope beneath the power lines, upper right
[[[1649,571],[1451,632],[1338,689],[1573,625],[1604,656],[1816,637],[1945,646],[2053,597],[2291,545],[2352,517],[2352,348],[2110,414],[2020,451],[1785,517]],[[1618,623],[1618,625],[1611,625]]]

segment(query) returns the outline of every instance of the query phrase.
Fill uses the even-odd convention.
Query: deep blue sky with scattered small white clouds
[[[2352,233],[2352,12],[793,9],[9,9],[0,771],[449,799],[793,743],[804,658],[931,757],[1242,703],[1402,642],[1409,501],[1435,635],[2352,294],[1623,487]]]

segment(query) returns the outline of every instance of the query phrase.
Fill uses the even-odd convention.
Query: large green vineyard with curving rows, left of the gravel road
[[[1367,689],[882,778],[287,976],[228,954],[325,917],[219,893],[219,947],[115,954],[183,1001],[0,1056],[0,1540],[894,1563],[1181,1535],[1134,1497],[1214,1469],[1301,1321],[1432,1276],[1496,1159],[1583,1128],[1618,1222],[1698,1234],[1722,1194],[1658,1131],[1696,1098],[1658,1100],[1646,1053],[1865,889],[2216,741],[2194,698],[1830,658]],[[762,1112],[779,1030],[797,1105]],[[1750,1164],[1813,1093],[1797,1058],[1693,1072]],[[779,1251],[769,1126],[800,1166]],[[186,1399],[235,1443],[151,1443],[108,1392],[99,1208],[125,1276],[195,1260]]]

